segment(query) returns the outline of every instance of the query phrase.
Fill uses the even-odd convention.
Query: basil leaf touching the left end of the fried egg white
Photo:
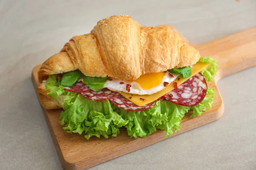
[[[84,76],[84,84],[88,85],[90,89],[93,91],[100,91],[103,86],[105,85],[105,82],[108,80],[107,77],[90,77],[90,76]]]

